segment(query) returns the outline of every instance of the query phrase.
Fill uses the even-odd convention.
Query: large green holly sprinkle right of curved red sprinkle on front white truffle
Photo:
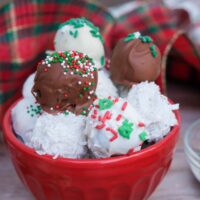
[[[124,120],[122,122],[122,125],[118,128],[119,134],[126,139],[130,139],[132,131],[133,131],[133,123],[129,123],[127,119]]]

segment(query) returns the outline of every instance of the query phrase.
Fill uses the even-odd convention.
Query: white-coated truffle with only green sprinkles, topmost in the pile
[[[56,51],[79,51],[95,62],[97,69],[105,64],[103,39],[98,27],[85,18],[75,18],[60,25],[54,38]]]

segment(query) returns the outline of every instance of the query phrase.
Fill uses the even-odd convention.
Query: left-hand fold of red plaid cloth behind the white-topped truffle
[[[110,49],[113,17],[102,7],[82,0],[14,0],[0,8],[0,119],[20,96],[26,77],[36,69],[60,23],[85,17],[100,28]]]

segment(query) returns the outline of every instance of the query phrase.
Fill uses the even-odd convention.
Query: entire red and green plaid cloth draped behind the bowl
[[[139,30],[151,35],[163,55],[157,80],[162,91],[166,66],[171,78],[200,82],[199,52],[162,4],[141,5],[115,20],[105,8],[83,0],[13,0],[0,8],[0,120],[21,95],[24,80],[45,50],[53,49],[58,25],[83,16],[100,27],[107,57],[118,39],[128,33]]]

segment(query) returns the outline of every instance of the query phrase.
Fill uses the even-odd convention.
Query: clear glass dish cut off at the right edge
[[[200,182],[200,119],[187,129],[184,136],[184,151],[194,176]]]

